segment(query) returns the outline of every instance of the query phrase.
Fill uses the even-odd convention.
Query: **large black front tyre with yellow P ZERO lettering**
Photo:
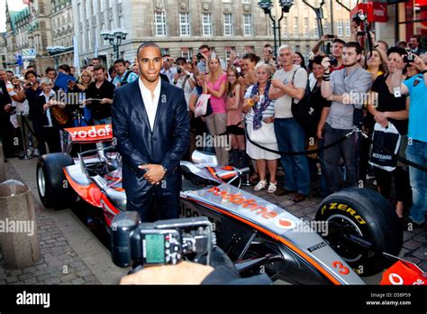
[[[323,237],[361,276],[383,271],[399,254],[403,230],[389,202],[372,189],[342,189],[323,199],[316,220],[326,221]]]

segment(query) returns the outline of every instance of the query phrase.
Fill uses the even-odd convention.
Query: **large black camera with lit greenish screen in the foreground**
[[[195,263],[211,264],[216,246],[212,223],[206,217],[141,223],[135,211],[126,211],[112,222],[112,257],[119,267],[177,264],[194,254]]]

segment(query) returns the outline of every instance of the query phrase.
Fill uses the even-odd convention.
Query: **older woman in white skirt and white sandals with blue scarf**
[[[273,127],[274,100],[268,97],[268,91],[271,87],[271,67],[268,64],[259,63],[255,69],[257,82],[246,91],[243,104],[243,111],[248,113],[246,115],[246,127],[253,142],[257,143],[255,133],[259,133],[259,135],[264,136],[263,139],[260,139],[262,143],[259,144],[277,151],[277,141]],[[268,129],[270,131],[267,131]],[[272,136],[274,138],[271,138]],[[267,143],[268,139],[272,141]],[[277,189],[277,159],[280,158],[280,155],[262,150],[249,141],[247,141],[246,147],[246,152],[250,158],[256,161],[259,173],[259,182],[254,190],[265,189],[267,187],[266,168],[268,167],[270,174],[268,193],[274,193]]]

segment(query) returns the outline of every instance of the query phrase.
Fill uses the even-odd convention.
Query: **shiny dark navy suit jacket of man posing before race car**
[[[189,144],[186,98],[181,88],[161,80],[159,106],[153,131],[141,97],[139,79],[114,90],[113,133],[123,157],[123,189],[128,197],[147,193],[152,186],[142,176],[141,164],[167,169],[168,189],[180,189],[179,162]],[[175,189],[176,188],[176,189]]]

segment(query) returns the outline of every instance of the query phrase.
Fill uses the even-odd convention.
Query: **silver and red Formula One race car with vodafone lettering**
[[[43,205],[68,208],[78,195],[102,208],[110,227],[115,215],[126,210],[121,156],[113,146],[102,146],[111,140],[109,125],[67,129],[65,152],[43,155],[37,166]],[[88,142],[98,147],[74,159],[68,154],[70,144]],[[208,217],[217,245],[242,276],[267,272],[273,280],[290,283],[364,284],[360,276],[386,269],[402,247],[395,211],[374,190],[332,194],[323,199],[315,221],[308,222],[240,189],[248,169],[218,167],[213,155],[197,151],[193,162],[181,162],[181,216]]]

